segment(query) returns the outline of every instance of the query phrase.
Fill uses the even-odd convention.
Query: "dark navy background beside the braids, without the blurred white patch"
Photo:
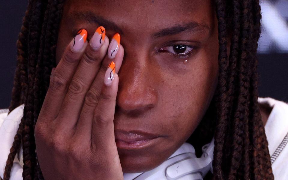
[[[0,6],[0,109],[10,104],[16,68],[16,41],[27,0],[1,1]],[[259,95],[288,101],[288,53],[258,54]]]

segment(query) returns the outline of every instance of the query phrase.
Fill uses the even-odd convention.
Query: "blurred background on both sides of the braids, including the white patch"
[[[16,41],[27,0],[1,1],[0,109],[8,108],[16,68]],[[288,0],[261,0],[259,95],[288,101]]]

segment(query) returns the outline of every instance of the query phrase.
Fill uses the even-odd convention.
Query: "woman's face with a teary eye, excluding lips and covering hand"
[[[150,170],[188,139],[214,95],[219,47],[214,7],[210,0],[69,0],[57,64],[79,29],[88,31],[89,40],[98,26],[105,27],[110,40],[118,32],[125,50],[115,131],[161,136],[146,148],[118,148],[123,172]]]

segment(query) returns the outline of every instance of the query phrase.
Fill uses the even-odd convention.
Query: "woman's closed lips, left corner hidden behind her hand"
[[[161,137],[143,131],[115,130],[115,142],[118,149],[145,149]]]

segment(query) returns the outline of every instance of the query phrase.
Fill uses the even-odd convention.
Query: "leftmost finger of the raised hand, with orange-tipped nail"
[[[67,88],[87,46],[87,31],[80,30],[66,47],[57,67],[50,76],[50,84],[41,113],[45,116],[57,117]]]

